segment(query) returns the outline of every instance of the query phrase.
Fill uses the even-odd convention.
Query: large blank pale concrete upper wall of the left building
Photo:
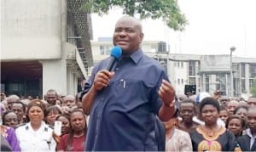
[[[61,0],[1,0],[1,59],[61,59]]]

